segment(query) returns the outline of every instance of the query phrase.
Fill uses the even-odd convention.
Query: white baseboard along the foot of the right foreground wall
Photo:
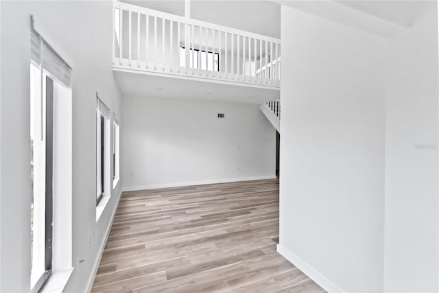
[[[299,257],[294,255],[294,253],[287,250],[285,247],[281,246],[281,244],[277,244],[277,252],[280,253],[287,261],[294,264],[296,268],[301,270],[304,274],[306,274],[309,279],[316,282],[320,287],[322,287],[327,292],[345,292],[340,289],[337,285],[329,281],[322,274],[314,270],[308,263],[302,261]]]

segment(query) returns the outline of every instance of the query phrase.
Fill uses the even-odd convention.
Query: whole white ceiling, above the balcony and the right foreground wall
[[[122,0],[185,16],[185,0]],[[191,0],[191,17],[240,30],[281,37],[281,4],[350,25],[392,36],[416,22],[436,0]]]

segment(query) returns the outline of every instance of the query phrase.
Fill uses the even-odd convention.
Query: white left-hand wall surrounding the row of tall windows
[[[120,187],[95,220],[95,92],[121,118],[111,60],[110,1],[1,1],[1,292],[29,292],[30,15],[73,67],[73,266],[65,292],[84,292]],[[123,122],[122,122],[123,123]],[[91,248],[88,248],[88,240]],[[84,263],[78,264],[79,259]]]

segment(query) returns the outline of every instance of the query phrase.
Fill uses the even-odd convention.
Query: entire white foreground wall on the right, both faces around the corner
[[[279,250],[329,290],[439,290],[438,17],[419,5],[388,38],[282,10]]]

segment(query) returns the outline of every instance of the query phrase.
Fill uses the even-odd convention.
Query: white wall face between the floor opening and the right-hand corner
[[[282,7],[279,251],[327,290],[383,288],[385,41]]]

